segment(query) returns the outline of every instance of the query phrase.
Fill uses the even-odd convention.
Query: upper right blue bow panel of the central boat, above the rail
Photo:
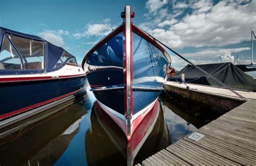
[[[163,82],[155,75],[165,77],[168,64],[163,52],[134,32],[132,33],[132,38],[133,83],[149,86],[162,84]]]

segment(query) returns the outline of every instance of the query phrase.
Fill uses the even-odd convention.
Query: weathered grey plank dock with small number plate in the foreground
[[[190,139],[195,133],[204,137],[198,141]],[[255,164],[256,100],[246,101],[142,162],[142,165]]]

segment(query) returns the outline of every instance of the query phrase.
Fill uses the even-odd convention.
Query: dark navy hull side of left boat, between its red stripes
[[[74,92],[85,86],[86,77],[0,84],[0,116]]]

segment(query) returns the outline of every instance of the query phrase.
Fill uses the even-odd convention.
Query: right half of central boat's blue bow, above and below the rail
[[[163,87],[163,82],[157,79],[164,81],[165,78],[163,68],[164,65],[167,68],[168,61],[164,54],[138,34],[133,32],[132,37],[133,85]],[[133,91],[133,114],[150,105],[158,96],[159,91]]]

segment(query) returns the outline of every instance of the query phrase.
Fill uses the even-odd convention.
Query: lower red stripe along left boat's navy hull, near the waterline
[[[33,109],[33,108],[36,108],[36,107],[45,105],[45,104],[50,103],[50,102],[52,102],[52,101],[56,101],[56,100],[65,98],[66,96],[75,94],[75,93],[77,93],[77,92],[79,92],[79,91],[83,91],[85,88],[86,88],[86,86],[83,87],[83,88],[78,89],[77,91],[73,91],[73,92],[70,92],[70,93],[68,93],[68,94],[64,94],[64,95],[62,95],[62,96],[58,96],[57,98],[53,98],[53,99],[50,99],[50,100],[46,100],[46,101],[43,101],[43,102],[39,102],[39,103],[36,103],[35,105],[31,105],[31,106],[24,107],[24,108],[21,108],[21,109],[18,109],[18,110],[14,110],[13,112],[10,112],[10,113],[7,113],[7,114],[0,115],[0,120],[2,120],[3,118],[9,117],[9,116],[13,116],[13,115],[16,115],[16,114],[25,112],[26,110],[30,110],[30,109]]]

